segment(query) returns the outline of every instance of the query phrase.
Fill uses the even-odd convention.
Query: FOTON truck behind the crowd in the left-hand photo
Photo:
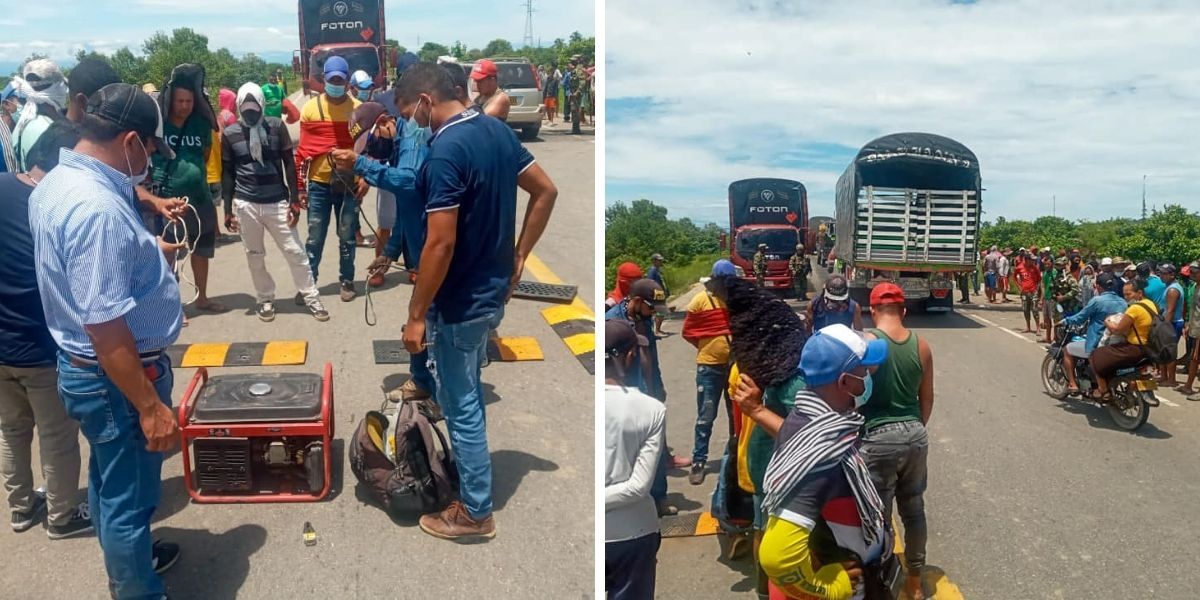
[[[350,73],[366,71],[376,89],[386,88],[388,65],[396,64],[398,49],[384,43],[383,4],[299,0],[300,49],[293,52],[292,68],[300,74],[305,95],[325,91],[325,60],[335,55],[346,59]]]

